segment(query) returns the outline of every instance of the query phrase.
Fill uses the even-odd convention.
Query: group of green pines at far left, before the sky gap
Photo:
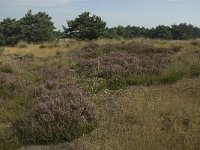
[[[44,42],[53,38],[54,23],[45,12],[28,13],[19,20],[6,18],[0,22],[0,46],[12,46],[20,40],[26,42]]]

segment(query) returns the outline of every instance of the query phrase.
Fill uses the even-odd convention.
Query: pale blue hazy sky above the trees
[[[108,27],[152,28],[183,22],[200,27],[200,0],[0,0],[0,21],[20,19],[30,9],[48,13],[58,30],[84,11],[100,16]]]

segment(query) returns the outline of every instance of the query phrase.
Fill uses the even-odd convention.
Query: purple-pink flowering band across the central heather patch
[[[128,54],[111,52],[101,58],[81,60],[77,64],[78,73],[87,76],[107,77],[115,74],[160,74],[169,57],[165,54]]]

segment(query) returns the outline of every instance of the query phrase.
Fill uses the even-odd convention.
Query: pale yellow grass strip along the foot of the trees
[[[192,45],[192,42],[200,43],[200,40],[193,41],[167,41],[167,40],[152,40],[146,38],[136,38],[131,40],[125,39],[99,39],[93,42],[104,45],[104,44],[116,44],[116,43],[129,43],[129,42],[139,42],[144,44],[153,45],[154,47],[162,47],[162,48],[180,48],[183,51],[191,51],[191,50],[199,50],[198,46]],[[87,42],[85,41],[76,41],[76,40],[61,40],[57,46],[51,47],[52,43],[44,43],[46,48],[40,48],[40,45],[36,44],[27,44],[27,47],[20,48],[18,46],[15,47],[5,47],[4,55],[18,54],[18,55],[26,55],[33,54],[35,57],[46,58],[49,56],[55,56],[58,52],[67,52],[69,50],[81,48]]]

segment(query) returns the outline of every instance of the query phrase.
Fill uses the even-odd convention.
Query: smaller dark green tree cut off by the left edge
[[[6,18],[0,22],[0,46],[15,45],[21,38],[21,27],[16,19]]]

